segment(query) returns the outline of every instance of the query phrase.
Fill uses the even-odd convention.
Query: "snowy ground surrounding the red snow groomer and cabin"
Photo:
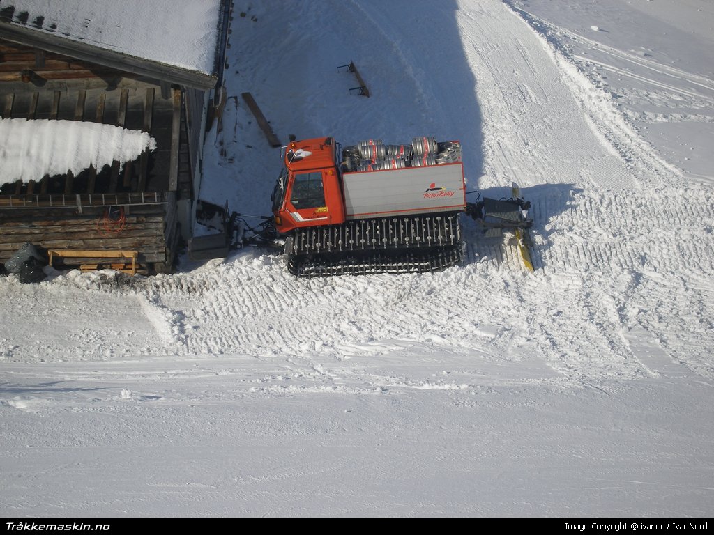
[[[283,140],[460,139],[536,272],[466,223],[438,274],[0,280],[0,512],[711,516],[712,7],[564,4],[236,1],[203,198],[269,211],[251,91]]]

